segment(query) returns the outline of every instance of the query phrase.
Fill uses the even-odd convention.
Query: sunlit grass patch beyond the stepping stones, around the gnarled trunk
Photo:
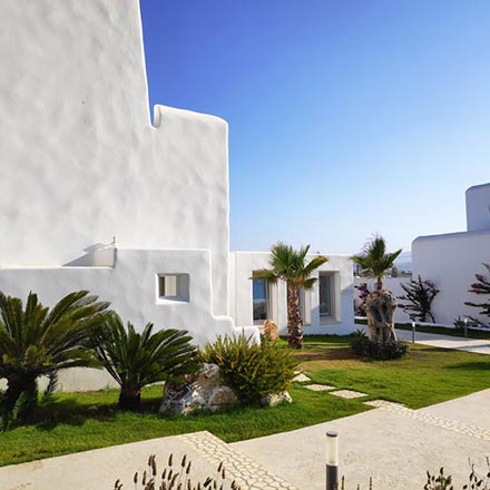
[[[490,388],[490,356],[411,344],[394,361],[355,357],[349,336],[311,336],[300,354],[316,383],[333,384],[420,409]]]

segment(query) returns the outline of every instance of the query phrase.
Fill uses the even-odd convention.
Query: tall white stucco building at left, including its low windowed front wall
[[[48,305],[89,290],[137,329],[198,343],[256,334],[235,255],[229,297],[227,124],[164,106],[151,124],[138,0],[7,0],[0,13],[0,290]],[[352,330],[351,265],[329,264],[332,320]]]

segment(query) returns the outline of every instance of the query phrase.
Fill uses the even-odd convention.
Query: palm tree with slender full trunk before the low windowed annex
[[[278,242],[271,251],[271,268],[255,271],[253,280],[265,280],[270,283],[284,281],[287,286],[287,343],[292,349],[303,347],[303,321],[300,308],[300,290],[311,290],[317,277],[313,272],[327,258],[318,255],[305,264],[310,245],[295,251],[292,246]]]

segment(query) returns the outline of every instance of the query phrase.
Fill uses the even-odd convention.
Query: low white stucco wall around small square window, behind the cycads
[[[39,301],[53,305],[63,295],[89,290],[109,301],[124,321],[141,330],[147,322],[156,329],[188,330],[204,344],[216,335],[235,334],[229,316],[212,312],[213,290],[209,251],[117,249],[115,267],[26,267],[0,268],[0,291],[26,300],[30,291]],[[189,275],[189,302],[160,300],[159,274]],[[252,334],[251,330],[247,334]],[[105,388],[110,379],[102,371],[68,370],[61,373],[61,388],[84,390]]]

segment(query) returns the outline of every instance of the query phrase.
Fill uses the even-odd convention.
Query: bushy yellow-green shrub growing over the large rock
[[[217,364],[225,382],[245,404],[259,403],[263,396],[286,390],[297,365],[286,347],[270,341],[257,344],[243,334],[207,343],[199,360]]]

